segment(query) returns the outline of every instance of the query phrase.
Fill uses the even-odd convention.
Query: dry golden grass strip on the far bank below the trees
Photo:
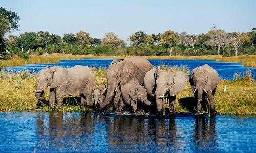
[[[18,66],[34,63],[56,63],[61,59],[82,59],[82,58],[129,58],[132,56],[111,56],[111,55],[71,55],[71,54],[45,54],[45,55],[31,55],[28,60],[20,57],[14,57],[10,60],[0,60],[0,67]],[[220,55],[207,56],[145,56],[147,59],[198,59],[198,60],[217,60],[222,62],[241,62],[244,66],[256,67],[256,55],[242,55],[223,57]]]

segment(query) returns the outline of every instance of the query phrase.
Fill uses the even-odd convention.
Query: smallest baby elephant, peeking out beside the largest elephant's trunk
[[[106,97],[106,85],[100,85],[93,90],[94,106],[97,109]]]

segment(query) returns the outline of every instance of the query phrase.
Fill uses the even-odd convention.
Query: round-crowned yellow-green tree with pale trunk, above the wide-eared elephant
[[[172,56],[173,46],[179,43],[179,35],[174,31],[166,30],[161,35],[160,43],[166,48],[166,52],[169,49],[169,55]]]

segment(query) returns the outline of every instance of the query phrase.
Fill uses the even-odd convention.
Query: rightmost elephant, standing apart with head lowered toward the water
[[[218,72],[207,64],[196,67],[191,71],[189,83],[191,85],[191,91],[194,93],[195,98],[197,98],[198,113],[201,112],[201,101],[205,101],[207,97],[210,102],[210,114],[215,115],[214,94],[219,82],[220,76]]]

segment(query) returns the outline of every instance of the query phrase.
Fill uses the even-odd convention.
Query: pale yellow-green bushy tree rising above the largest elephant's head
[[[126,45],[126,43],[122,39],[118,38],[114,32],[106,33],[102,40],[102,44],[111,48],[124,47]]]

